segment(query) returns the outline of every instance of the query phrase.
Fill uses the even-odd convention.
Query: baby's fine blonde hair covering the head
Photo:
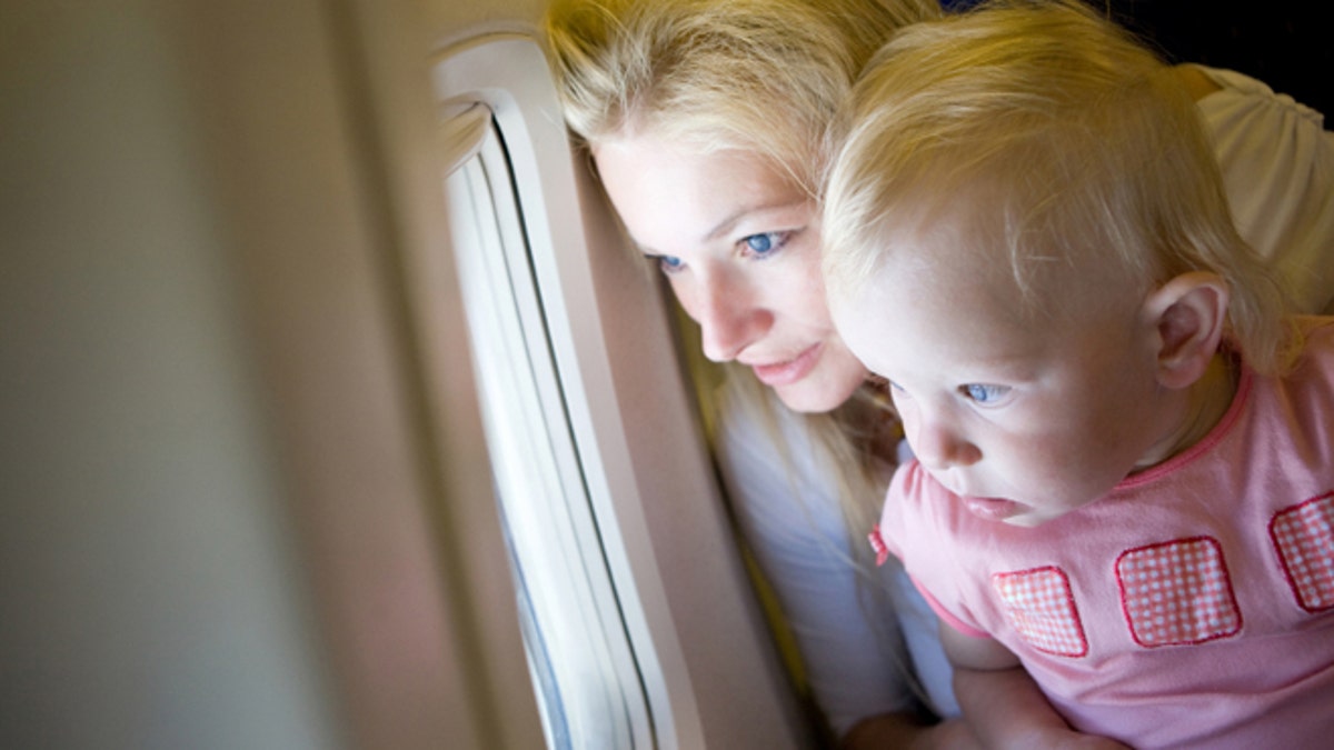
[[[1282,284],[1233,226],[1195,103],[1082,3],[992,1],[904,29],[838,129],[823,216],[831,299],[858,292],[892,232],[952,222],[983,262],[1009,263],[1030,312],[1053,312],[1039,294],[1049,272],[1141,292],[1218,274],[1231,344],[1258,371],[1287,363]]]

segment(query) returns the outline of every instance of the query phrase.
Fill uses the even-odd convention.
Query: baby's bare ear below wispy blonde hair
[[[1158,383],[1185,388],[1198,380],[1218,351],[1227,324],[1227,283],[1193,271],[1173,278],[1145,300],[1158,332]]]

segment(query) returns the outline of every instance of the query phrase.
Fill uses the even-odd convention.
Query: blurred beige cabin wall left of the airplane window
[[[0,746],[540,746],[467,360],[426,424],[395,294],[424,8],[5,4]]]

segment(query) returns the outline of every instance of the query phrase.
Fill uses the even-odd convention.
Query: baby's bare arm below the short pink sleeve
[[[964,635],[940,623],[940,642],[954,665],[954,694],[963,718],[986,747],[1081,747],[1125,745],[1079,734],[1051,707],[1019,658],[991,638]]]

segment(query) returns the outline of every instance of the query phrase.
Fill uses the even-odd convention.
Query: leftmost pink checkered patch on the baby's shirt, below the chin
[[[1057,567],[1038,567],[991,577],[1006,619],[1034,649],[1057,657],[1089,653],[1070,581]]]

